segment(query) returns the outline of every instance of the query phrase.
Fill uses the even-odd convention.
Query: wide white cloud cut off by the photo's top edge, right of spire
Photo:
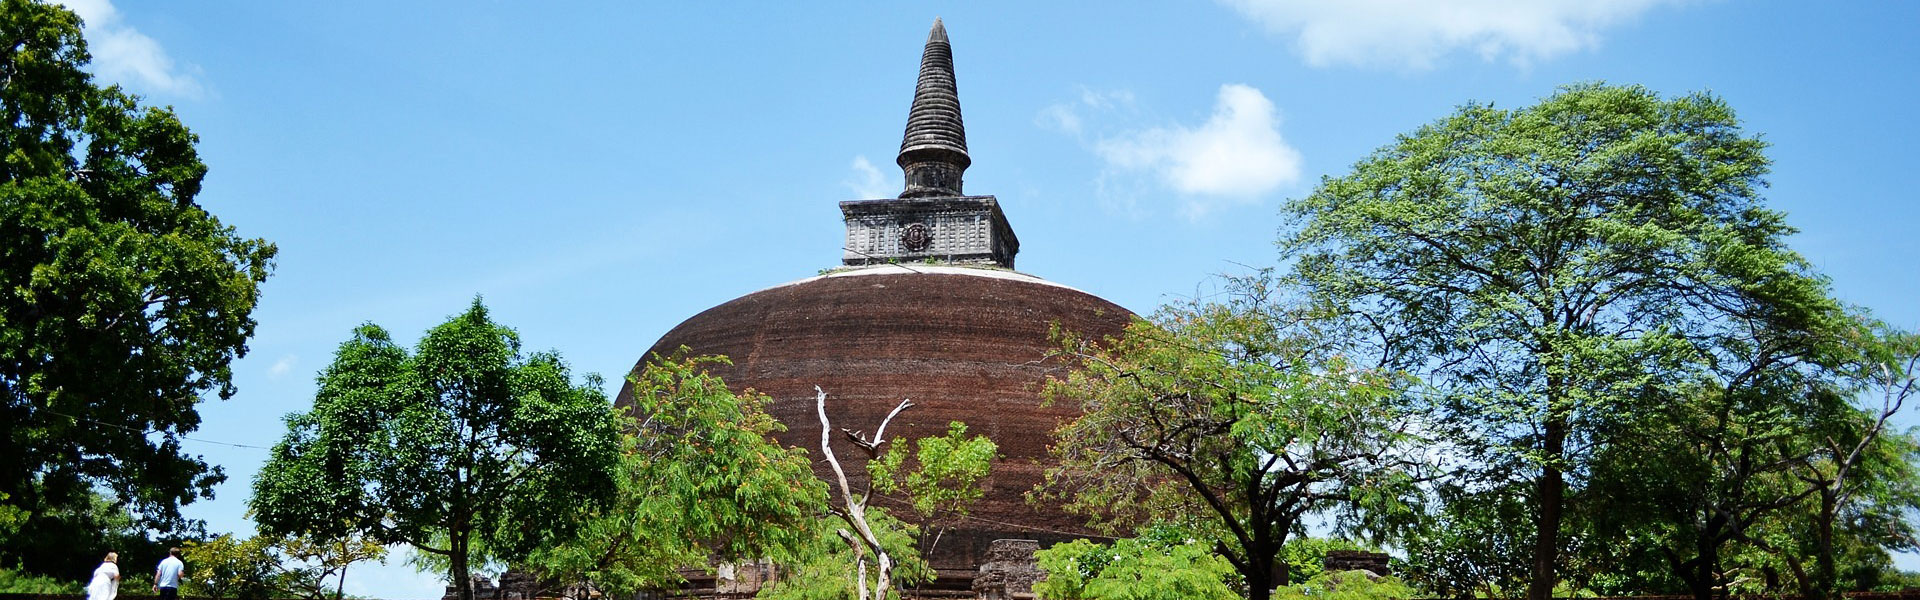
[[[1223,0],[1290,35],[1315,67],[1427,69],[1459,48],[1528,65],[1599,44],[1601,31],[1686,0]]]

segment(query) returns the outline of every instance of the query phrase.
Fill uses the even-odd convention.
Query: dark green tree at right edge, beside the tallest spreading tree
[[[1807,596],[1837,592],[1834,525],[1847,537],[1851,523],[1872,523],[1851,540],[1860,548],[1912,544],[1901,515],[1916,492],[1912,452],[1903,450],[1912,440],[1885,431],[1912,381],[1910,354],[1897,360],[1910,340],[1862,317],[1722,338],[1713,369],[1682,396],[1622,419],[1632,442],[1597,452],[1592,521],[1601,535],[1653,546],[1695,598],[1766,579],[1768,592],[1784,590],[1778,575],[1736,569],[1740,546],[1774,554],[1774,571],[1791,571]],[[1862,392],[1882,406],[1859,408]],[[1839,513],[1849,517],[1836,523]],[[1776,548],[1768,538],[1784,531],[1805,542]]]

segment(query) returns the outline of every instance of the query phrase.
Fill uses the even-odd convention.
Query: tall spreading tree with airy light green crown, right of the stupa
[[[1528,598],[1622,413],[1684,396],[1728,323],[1832,310],[1763,150],[1711,94],[1576,85],[1463,106],[1286,204],[1294,281],[1434,387],[1482,487],[1524,485]]]

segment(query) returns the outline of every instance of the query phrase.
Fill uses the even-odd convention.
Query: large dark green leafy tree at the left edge
[[[0,40],[0,502],[38,519],[106,488],[179,525],[223,479],[180,437],[234,394],[275,246],[194,202],[198,138],[96,85],[71,12],[4,0]]]

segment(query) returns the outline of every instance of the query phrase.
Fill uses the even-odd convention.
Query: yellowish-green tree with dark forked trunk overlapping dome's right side
[[[1108,529],[1185,515],[1265,600],[1308,513],[1405,510],[1411,425],[1404,377],[1342,358],[1267,277],[1233,285],[1102,344],[1064,335],[1077,369],[1044,394],[1083,415],[1056,433],[1041,490]]]

